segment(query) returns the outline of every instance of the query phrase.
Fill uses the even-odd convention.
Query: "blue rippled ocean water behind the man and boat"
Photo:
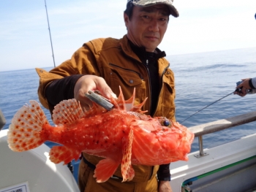
[[[176,77],[176,120],[182,122],[208,104],[232,93],[236,82],[246,77],[256,77],[256,47],[239,50],[222,50],[208,53],[167,56]],[[39,66],[35,66],[39,67]],[[45,68],[50,70],[51,68]],[[8,128],[13,115],[29,100],[38,100],[39,77],[35,69],[0,72],[0,109]],[[197,126],[214,120],[230,118],[255,111],[256,94],[240,97],[231,94],[193,115],[182,124]],[[50,120],[50,113],[43,108]],[[256,122],[228,128],[203,136],[204,148],[222,145],[256,132]],[[52,147],[54,144],[46,142]],[[198,150],[197,138],[192,151]],[[79,161],[72,161],[77,179]]]

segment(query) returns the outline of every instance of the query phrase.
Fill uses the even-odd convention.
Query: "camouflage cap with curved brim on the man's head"
[[[149,7],[154,4],[166,4],[170,10],[170,15],[173,15],[173,17],[178,18],[178,11],[173,6],[173,0],[128,0],[127,4],[129,2],[138,7]]]

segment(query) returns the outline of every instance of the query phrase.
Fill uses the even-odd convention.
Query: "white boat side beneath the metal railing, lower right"
[[[172,177],[170,184],[174,192],[181,191],[181,185],[185,180],[189,180],[193,177],[200,176],[201,174],[206,174],[224,166],[235,164],[238,161],[255,156],[256,134],[242,137],[241,139],[229,142],[225,145],[219,145],[211,149],[204,149],[204,153],[208,153],[208,155],[200,158],[195,157],[198,153],[198,151],[195,153],[189,153],[189,161],[187,162],[178,161],[170,164],[170,174]],[[242,188],[245,188],[245,185],[248,185],[248,183],[251,183],[252,186],[256,186],[256,158],[252,158],[252,160],[249,160],[248,162],[251,164],[248,166],[250,166],[249,169],[252,170],[250,173],[252,175],[250,177],[246,177],[245,183],[241,177],[238,177],[238,183],[229,183],[227,186],[222,185],[221,191],[241,192],[244,190]],[[239,169],[242,170],[245,168],[240,167]],[[194,179],[197,180],[197,178]],[[216,179],[214,181],[207,181],[206,184],[197,185],[197,189],[193,189],[192,191],[212,191],[210,185],[214,185],[216,182]],[[220,184],[221,183],[219,183],[219,185]],[[214,191],[217,191],[216,186],[214,186]]]

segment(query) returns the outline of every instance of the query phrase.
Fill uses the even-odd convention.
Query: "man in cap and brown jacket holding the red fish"
[[[52,112],[60,101],[75,98],[89,109],[91,101],[85,93],[97,89],[109,99],[119,94],[121,86],[124,99],[129,99],[136,88],[136,104],[148,97],[142,109],[148,110],[148,115],[175,120],[174,75],[165,52],[157,48],[167,30],[169,15],[178,17],[173,0],[128,0],[124,11],[127,34],[122,39],[94,39],[50,72],[37,69],[42,105]],[[108,181],[96,183],[93,174],[100,159],[83,153],[80,191],[172,191],[169,164],[132,165],[135,177],[124,183],[119,166]]]

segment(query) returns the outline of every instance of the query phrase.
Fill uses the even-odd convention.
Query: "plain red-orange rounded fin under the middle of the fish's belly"
[[[99,161],[94,170],[94,177],[96,177],[97,183],[105,182],[112,177],[119,164],[120,161],[114,161],[110,158]]]

